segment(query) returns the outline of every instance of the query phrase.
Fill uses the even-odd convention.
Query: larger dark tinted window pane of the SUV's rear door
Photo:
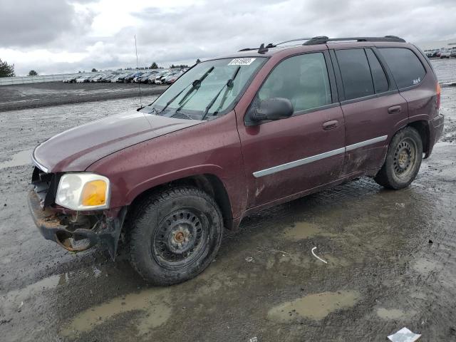
[[[364,49],[336,50],[336,57],[341,69],[345,99],[352,100],[373,95],[371,69]]]

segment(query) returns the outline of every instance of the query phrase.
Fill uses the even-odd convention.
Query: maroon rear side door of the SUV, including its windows
[[[331,51],[345,118],[346,153],[342,176],[383,165],[388,142],[406,125],[408,108],[375,48]]]

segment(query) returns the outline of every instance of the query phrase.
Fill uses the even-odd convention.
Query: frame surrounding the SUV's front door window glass
[[[288,58],[292,58],[292,57],[296,57],[296,56],[308,55],[310,53],[323,53],[323,58],[324,58],[325,63],[326,63],[326,71],[328,71],[329,88],[331,89],[331,102],[332,103],[328,103],[327,105],[321,105],[321,106],[315,107],[315,108],[309,108],[309,109],[306,109],[306,110],[295,111],[293,113],[293,115],[291,115],[291,117],[298,116],[298,115],[304,115],[304,114],[307,114],[307,113],[316,112],[317,110],[325,110],[325,109],[337,107],[338,105],[340,105],[339,98],[338,98],[338,86],[336,85],[336,77],[335,77],[335,74],[334,74],[335,71],[333,70],[333,63],[331,63],[331,57],[329,56],[329,51],[328,50],[321,50],[321,51],[309,51],[309,52],[305,52],[305,53],[296,53],[294,55],[286,56],[285,58],[283,58],[280,61],[278,61],[276,63],[276,65],[274,66],[274,68],[272,68],[271,71],[269,71],[269,73],[266,75],[266,77],[261,82],[260,86],[258,87],[257,92],[255,93],[254,97],[252,98],[252,102],[250,103],[249,108],[247,108],[247,110],[246,110],[246,112],[244,114],[244,125],[246,125],[246,126],[262,125],[264,123],[270,123],[271,122],[271,120],[265,120],[265,121],[263,121],[261,123],[252,123],[249,120],[247,120],[247,118],[249,117],[249,112],[250,112],[250,110],[252,110],[252,108],[254,106],[255,100],[257,100],[257,96],[258,96],[259,91],[261,90],[261,87],[264,85],[264,83],[267,81],[267,79],[269,78],[271,73],[275,70],[275,68],[277,66],[279,66],[280,63],[286,61]],[[286,119],[283,119],[283,120],[286,120]]]

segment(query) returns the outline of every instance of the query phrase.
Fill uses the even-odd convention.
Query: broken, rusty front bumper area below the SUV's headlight
[[[126,207],[120,209],[117,217],[107,217],[104,214],[96,217],[76,214],[76,217],[69,217],[48,207],[41,207],[40,198],[33,190],[28,193],[28,207],[36,227],[45,239],[56,242],[70,252],[81,252],[95,244],[103,244],[110,257],[115,259]]]

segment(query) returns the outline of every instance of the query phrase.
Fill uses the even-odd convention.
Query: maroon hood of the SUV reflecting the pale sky
[[[54,135],[35,148],[33,159],[47,172],[83,171],[113,152],[198,123],[132,110]]]

